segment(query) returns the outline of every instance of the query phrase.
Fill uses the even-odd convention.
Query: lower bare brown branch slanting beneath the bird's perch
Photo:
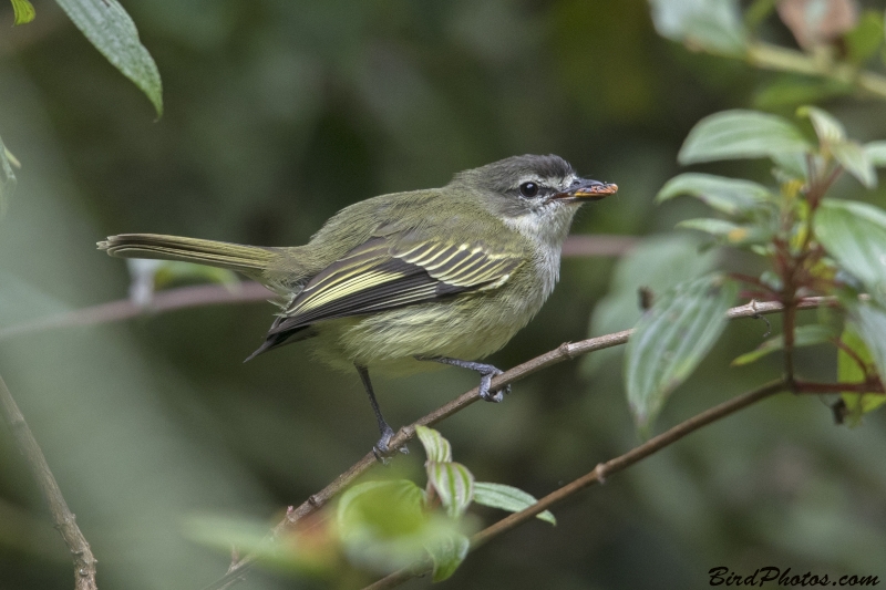
[[[758,390],[744,393],[738,397],[729,400],[728,402],[723,402],[720,405],[711,407],[701,414],[697,414],[696,416],[692,416],[686,422],[678,424],[671,429],[650,438],[639,446],[633,447],[624,455],[619,455],[618,457],[609,459],[606,463],[598,464],[593,472],[587,473],[578,479],[552,491],[525,510],[508,515],[494,525],[474,535],[471,538],[471,550],[473,551],[498,535],[507,532],[508,530],[530,520],[539,513],[547,510],[555,504],[575,495],[579,490],[585,489],[593,484],[602,484],[610,474],[618,473],[630,467],[635,463],[642,460],[653,453],[661,451],[666,446],[676,443],[683,436],[698,431],[702,426],[707,426],[708,424],[717,422],[718,420],[724,418],[730,414],[738,412],[739,410],[748,407],[755,402],[785,390],[785,382],[781,380],[767,383]],[[365,587],[363,590],[384,590],[388,588],[394,588],[429,571],[431,571],[430,560],[421,561],[408,568],[395,571],[390,576],[377,581],[375,583]]]

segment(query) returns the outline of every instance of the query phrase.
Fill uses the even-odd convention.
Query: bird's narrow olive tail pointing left
[[[268,265],[280,256],[277,248],[156,234],[111,236],[99,242],[99,249],[120,258],[158,258],[227,268],[253,278],[259,278]]]

